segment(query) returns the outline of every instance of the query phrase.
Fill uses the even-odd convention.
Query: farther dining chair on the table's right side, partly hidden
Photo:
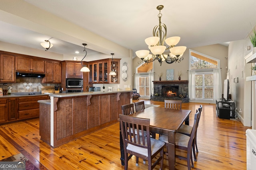
[[[198,149],[197,149],[197,142],[196,142],[197,128],[198,128],[198,125],[199,125],[199,121],[200,121],[200,117],[201,117],[202,108],[203,108],[202,105],[200,105],[200,107],[198,108],[198,111],[200,112],[200,115],[199,115],[198,124],[197,124],[197,127],[196,127],[196,134],[195,134],[195,138],[194,138],[194,143],[195,143],[195,146],[196,146],[196,152],[198,152]],[[178,133],[182,133],[182,134],[184,134],[184,135],[190,136],[190,135],[191,135],[191,132],[192,132],[192,129],[193,129],[192,126],[182,124],[182,126],[181,126],[180,129],[178,130]],[[193,154],[194,154],[194,160],[197,161],[195,149],[193,149]]]

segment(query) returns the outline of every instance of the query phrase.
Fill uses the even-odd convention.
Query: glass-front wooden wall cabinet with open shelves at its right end
[[[112,59],[103,59],[98,61],[89,62],[90,72],[89,83],[119,83],[120,72],[120,59],[114,59],[112,65]],[[116,76],[110,76],[109,73],[112,70],[116,72]]]

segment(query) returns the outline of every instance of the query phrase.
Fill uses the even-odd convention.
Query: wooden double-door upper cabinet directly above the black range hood
[[[16,56],[16,71],[44,73],[44,60]]]

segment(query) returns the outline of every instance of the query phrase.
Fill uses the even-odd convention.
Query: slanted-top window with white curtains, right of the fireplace
[[[220,60],[189,50],[189,98],[211,100],[220,97],[222,82]]]

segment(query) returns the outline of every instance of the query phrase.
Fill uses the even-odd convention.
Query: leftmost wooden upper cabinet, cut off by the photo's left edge
[[[15,57],[0,55],[0,82],[15,82]]]

